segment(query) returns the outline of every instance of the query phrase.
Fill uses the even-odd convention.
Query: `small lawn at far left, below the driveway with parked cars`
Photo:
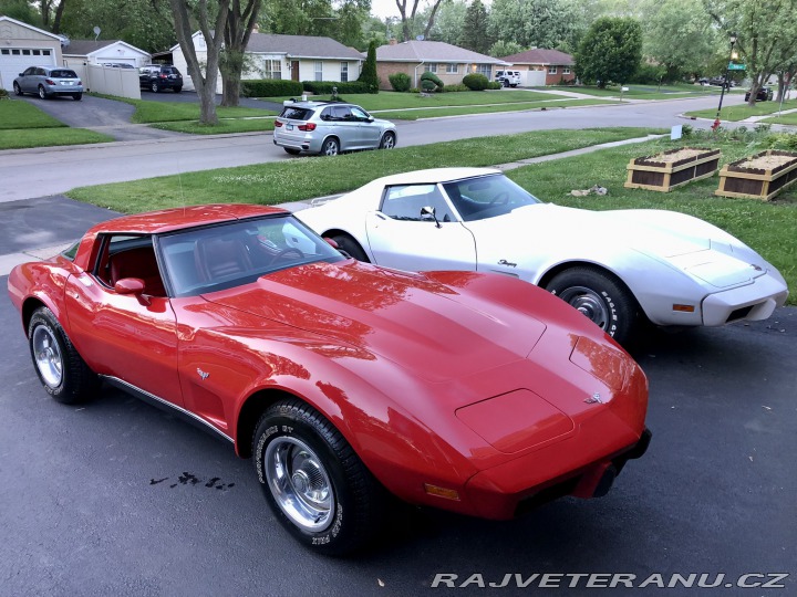
[[[27,149],[112,142],[113,137],[69,128],[24,100],[0,101],[0,149]]]

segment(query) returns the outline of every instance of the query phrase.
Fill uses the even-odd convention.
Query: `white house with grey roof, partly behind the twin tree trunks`
[[[207,60],[201,32],[194,33],[199,62]],[[356,81],[365,57],[331,38],[252,33],[246,49],[249,61],[241,78],[286,78],[292,81]],[[185,88],[193,90],[188,66],[179,44],[172,48],[173,64],[183,73]],[[221,77],[217,83],[221,93]]]

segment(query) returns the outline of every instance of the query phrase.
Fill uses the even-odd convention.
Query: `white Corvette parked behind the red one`
[[[703,220],[544,203],[494,169],[387,176],[298,217],[361,261],[531,282],[620,343],[645,317],[661,326],[765,320],[788,296],[773,265]]]

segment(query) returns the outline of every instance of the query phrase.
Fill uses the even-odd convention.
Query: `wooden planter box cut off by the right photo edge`
[[[797,153],[769,149],[723,166],[714,195],[768,201],[795,180]]]

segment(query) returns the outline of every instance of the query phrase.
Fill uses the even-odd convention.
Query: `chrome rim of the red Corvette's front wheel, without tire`
[[[303,441],[281,437],[263,458],[266,483],[280,510],[300,528],[319,533],[332,523],[335,496],[318,454]]]

